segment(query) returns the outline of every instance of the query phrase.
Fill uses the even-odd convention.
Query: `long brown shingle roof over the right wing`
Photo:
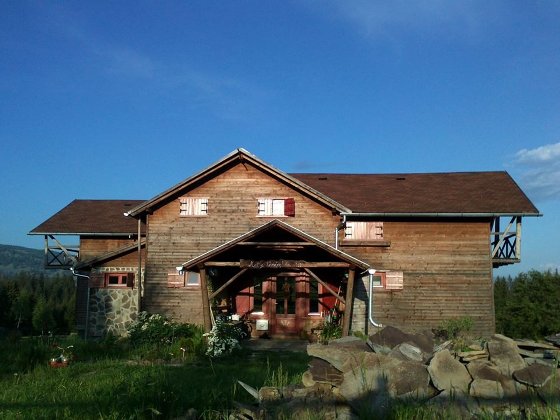
[[[505,171],[290,175],[354,213],[538,213]]]

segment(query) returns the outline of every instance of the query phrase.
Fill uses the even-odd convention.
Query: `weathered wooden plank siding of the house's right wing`
[[[386,248],[342,246],[377,270],[404,272],[403,290],[374,289],[374,320],[401,328],[471,316],[475,333],[494,332],[492,264],[486,220],[384,221]],[[365,283],[365,284],[363,284]],[[367,281],[354,287],[353,328],[367,325]],[[371,332],[371,329],[370,329]]]

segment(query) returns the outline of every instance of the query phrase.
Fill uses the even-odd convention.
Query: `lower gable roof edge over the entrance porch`
[[[365,263],[361,260],[358,260],[357,258],[354,258],[352,255],[344,253],[343,251],[340,251],[340,250],[334,248],[333,246],[330,246],[326,242],[323,242],[323,241],[317,239],[314,236],[306,234],[304,231],[299,230],[298,228],[293,227],[291,225],[288,225],[288,223],[282,222],[281,220],[278,220],[278,219],[273,219],[273,220],[271,220],[267,223],[264,223],[264,225],[256,227],[253,230],[250,230],[249,232],[246,232],[245,234],[243,234],[241,236],[237,236],[235,239],[224,242],[222,245],[217,246],[216,248],[211,249],[211,250],[207,251],[206,253],[200,254],[197,257],[188,260],[187,262],[185,262],[183,264],[183,267],[185,267],[187,269],[191,268],[191,267],[194,267],[195,265],[197,265],[200,262],[207,261],[209,258],[212,258],[213,256],[216,256],[218,254],[223,253],[224,251],[227,251],[228,249],[233,248],[239,242],[246,241],[246,240],[248,240],[252,237],[255,237],[259,234],[262,234],[263,232],[265,232],[265,231],[267,231],[267,230],[269,230],[273,227],[279,227],[279,228],[281,228],[281,229],[283,229],[287,232],[290,232],[291,234],[299,237],[300,239],[302,239],[306,242],[310,242],[310,243],[318,246],[318,248],[323,249],[324,251],[327,251],[329,254],[331,254],[333,256],[336,256],[337,258],[343,260],[344,262],[356,265],[357,267],[360,267],[362,269],[367,269],[368,267],[370,267],[370,264]]]

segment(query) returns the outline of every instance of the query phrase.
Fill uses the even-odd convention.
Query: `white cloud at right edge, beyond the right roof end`
[[[520,184],[531,199],[560,199],[560,142],[522,149],[512,163],[521,170]]]

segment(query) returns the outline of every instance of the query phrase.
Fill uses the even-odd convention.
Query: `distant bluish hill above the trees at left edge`
[[[42,249],[0,244],[0,274],[12,276],[22,271],[29,271],[52,276],[60,272],[60,270],[45,270],[43,268],[44,258],[45,251]]]

